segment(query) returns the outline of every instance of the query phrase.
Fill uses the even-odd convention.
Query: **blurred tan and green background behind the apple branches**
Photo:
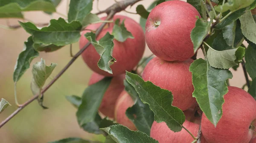
[[[146,8],[154,0],[143,0],[136,3],[126,10],[136,12],[136,7],[143,4]],[[184,0],[186,1],[186,0]],[[96,13],[97,0],[94,0],[93,11]],[[69,0],[62,0],[57,8],[58,13],[67,15]],[[114,0],[99,0],[99,9],[104,10],[115,3]],[[139,22],[140,16],[137,14],[129,14],[120,12],[119,14],[132,17]],[[50,19],[58,19],[59,14],[52,16],[44,12],[25,12],[25,18],[34,23],[46,23]],[[100,16],[105,16],[104,14]],[[63,17],[65,18],[65,17]],[[17,25],[19,19],[0,19],[1,25]],[[22,21],[22,20],[21,20]],[[22,28],[17,30],[7,30],[0,28],[0,98],[5,98],[12,104],[0,114],[0,122],[7,118],[17,107],[14,101],[14,83],[12,73],[19,53],[23,49],[23,44],[29,37]],[[73,44],[73,53],[79,50],[78,43]],[[86,51],[85,51],[86,52]],[[144,55],[148,56],[151,52],[146,48]],[[198,52],[198,58],[202,58],[201,51]],[[57,67],[53,70],[52,75],[46,84],[70,61],[70,48],[66,46],[52,53],[41,52],[38,58],[32,61],[32,64],[43,58],[47,65],[54,62]],[[245,84],[244,73],[240,67],[233,73],[233,79],[230,85],[242,87]],[[49,109],[42,109],[38,103],[32,102],[14,118],[12,118],[5,126],[0,129],[1,143],[47,143],[49,141],[59,140],[66,137],[81,137],[92,140],[104,140],[101,135],[91,135],[79,128],[76,121],[76,109],[65,98],[66,95],[81,96],[87,87],[88,80],[92,71],[84,64],[79,57],[74,64],[61,76],[55,84],[44,94],[44,105]],[[22,78],[17,82],[17,96],[19,103],[22,104],[32,97],[30,91],[30,80],[32,79],[31,68],[26,71]]]

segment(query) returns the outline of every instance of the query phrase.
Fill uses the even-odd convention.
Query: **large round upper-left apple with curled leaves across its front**
[[[105,18],[106,17],[103,17],[101,19],[105,20]],[[100,56],[93,47],[93,45],[90,45],[82,53],[82,57],[87,66],[90,67],[90,69],[94,72],[104,76],[116,76],[125,73],[125,70],[131,71],[138,64],[145,50],[145,35],[140,24],[138,24],[136,21],[132,20],[129,17],[121,15],[116,15],[113,17],[114,21],[116,19],[120,19],[120,22],[122,22],[122,20],[125,20],[125,27],[128,31],[131,32],[131,34],[134,36],[134,39],[128,38],[125,40],[125,42],[118,42],[115,39],[113,40],[113,57],[116,59],[116,62],[110,66],[113,71],[113,75],[105,72],[104,70],[101,70],[98,67],[97,63],[100,59]],[[86,29],[96,30],[97,28],[99,28],[100,25],[101,23],[89,25]],[[105,28],[96,39],[101,39],[103,36],[105,36],[107,32],[111,34],[113,30],[113,25],[113,23],[109,23],[107,26],[105,26]],[[88,42],[88,40],[84,37],[84,34],[86,34],[87,32],[90,31],[85,30],[81,32],[82,36],[79,40],[80,49],[83,48],[83,46]]]

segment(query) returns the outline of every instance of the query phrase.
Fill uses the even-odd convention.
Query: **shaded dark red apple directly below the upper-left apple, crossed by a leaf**
[[[102,80],[105,76],[98,73],[93,73],[89,80],[89,85],[95,84],[96,82]],[[120,93],[124,90],[125,86],[123,84],[125,79],[125,74],[114,76],[106,90],[102,102],[99,106],[99,111],[109,118],[114,118],[114,110],[116,105],[116,100]]]

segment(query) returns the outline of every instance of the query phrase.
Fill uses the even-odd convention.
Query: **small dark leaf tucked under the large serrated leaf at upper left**
[[[56,46],[56,45],[53,45],[53,44],[45,45],[45,44],[42,44],[42,43],[40,43],[40,44],[34,43],[33,47],[37,51],[53,52],[55,50],[58,50],[58,49],[62,48],[63,46]]]

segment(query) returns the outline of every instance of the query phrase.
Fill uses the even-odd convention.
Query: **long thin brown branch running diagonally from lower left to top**
[[[134,3],[137,3],[141,0],[123,0],[120,1],[119,3],[115,3],[113,4],[110,8],[107,8],[106,13],[108,14],[108,17],[106,18],[106,20],[110,20],[117,12],[120,12],[122,10],[124,10],[126,7],[133,5]],[[102,25],[97,29],[96,31],[96,36],[99,35],[99,33],[102,31],[102,29],[105,27],[107,23],[102,23]],[[52,79],[52,81],[41,91],[41,94],[44,94],[51,86],[52,84],[55,83],[55,81],[58,80],[59,77],[61,77],[61,75],[70,67],[71,64],[73,64],[73,62],[75,62],[75,60],[81,55],[81,53],[84,52],[84,50],[86,50],[86,48],[90,45],[90,42],[88,42],[86,45],[84,45],[84,47],[79,50],[78,53],[76,53],[76,55],[74,55],[74,57],[70,60],[70,62],[68,62],[68,64],[58,73],[57,76],[55,76],[54,79]],[[26,107],[28,104],[30,104],[32,101],[34,101],[35,99],[38,98],[39,95],[34,95],[32,98],[30,98],[28,101],[26,101],[24,104],[21,104],[11,115],[9,115],[9,117],[7,117],[4,121],[2,121],[0,123],[0,128],[5,125],[10,119],[12,119],[15,115],[17,115],[18,112],[20,112],[24,107]]]

